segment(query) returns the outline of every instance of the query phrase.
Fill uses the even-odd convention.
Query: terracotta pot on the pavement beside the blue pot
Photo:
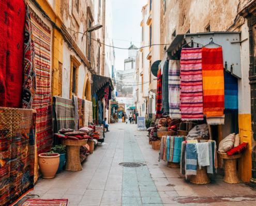
[[[41,153],[38,155],[38,164],[44,179],[54,178],[59,165],[59,154]]]

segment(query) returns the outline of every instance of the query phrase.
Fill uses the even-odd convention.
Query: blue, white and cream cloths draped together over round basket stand
[[[197,175],[197,167],[206,166],[207,173],[217,172],[216,142],[213,140],[188,140],[182,142],[180,173]]]

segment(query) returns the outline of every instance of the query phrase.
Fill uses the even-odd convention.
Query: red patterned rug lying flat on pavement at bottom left
[[[66,206],[68,199],[27,199],[22,206]]]

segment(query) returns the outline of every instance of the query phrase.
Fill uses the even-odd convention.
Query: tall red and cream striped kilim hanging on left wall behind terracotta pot
[[[52,145],[51,116],[51,30],[39,16],[29,8],[35,42],[36,94],[32,108],[37,111],[37,152],[49,151]]]

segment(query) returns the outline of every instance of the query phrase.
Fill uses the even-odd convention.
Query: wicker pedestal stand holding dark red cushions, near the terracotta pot
[[[82,165],[80,162],[80,147],[86,145],[87,140],[63,140],[62,144],[66,145],[67,161],[66,170],[80,171]]]

